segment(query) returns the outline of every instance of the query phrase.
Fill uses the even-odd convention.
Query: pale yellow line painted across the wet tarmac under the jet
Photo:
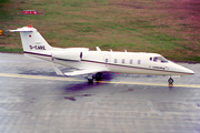
[[[58,81],[84,81],[74,78],[62,78],[62,76],[46,76],[46,75],[29,75],[29,74],[13,74],[13,73],[0,73],[0,76],[7,78],[22,78],[22,79],[42,79],[42,80],[58,80]],[[157,86],[168,86],[168,84],[158,83],[142,83],[142,82],[116,82],[116,81],[94,81],[99,83],[109,84],[132,84],[132,85],[157,85]],[[181,88],[200,88],[200,84],[176,84],[174,86]]]

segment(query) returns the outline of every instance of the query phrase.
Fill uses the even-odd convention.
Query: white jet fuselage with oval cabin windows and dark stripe
[[[80,54],[82,55],[80,57]],[[53,51],[47,51],[47,53],[33,55],[80,70],[96,68],[100,70],[103,69],[107,72],[130,74],[193,74],[193,71],[168,61],[157,53],[54,49]],[[156,60],[156,58],[162,58],[163,60]]]

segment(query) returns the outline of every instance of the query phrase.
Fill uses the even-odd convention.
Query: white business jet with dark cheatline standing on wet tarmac
[[[88,75],[88,81],[101,79],[103,72],[169,75],[169,84],[173,84],[171,75],[191,75],[192,70],[176,64],[158,53],[90,51],[88,48],[53,48],[31,25],[9,30],[20,32],[23,53],[52,62],[58,75]],[[62,72],[57,64],[73,68],[74,71]]]

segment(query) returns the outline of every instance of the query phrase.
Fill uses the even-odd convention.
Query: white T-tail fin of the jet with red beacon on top
[[[21,42],[24,52],[48,51],[52,47],[42,38],[42,35],[32,27],[23,27],[17,30],[9,30],[10,32],[20,32]]]

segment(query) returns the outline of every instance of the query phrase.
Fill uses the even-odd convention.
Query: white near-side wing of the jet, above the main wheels
[[[74,75],[83,75],[83,74],[91,74],[91,73],[98,73],[98,72],[108,72],[108,70],[103,70],[103,69],[83,69],[83,70],[73,71],[73,72],[64,72],[64,75],[74,76]]]

